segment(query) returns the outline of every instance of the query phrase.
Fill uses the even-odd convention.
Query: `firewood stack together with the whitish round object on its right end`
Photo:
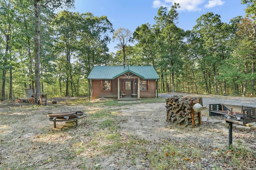
[[[200,125],[202,109],[202,98],[181,95],[166,98],[166,119],[171,123],[192,125],[192,127]]]

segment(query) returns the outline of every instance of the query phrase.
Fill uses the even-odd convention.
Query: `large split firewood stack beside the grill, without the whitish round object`
[[[194,125],[199,124],[199,113],[192,111],[191,100],[197,98],[174,95],[166,98],[166,119],[172,123],[192,125],[192,112],[194,113]]]

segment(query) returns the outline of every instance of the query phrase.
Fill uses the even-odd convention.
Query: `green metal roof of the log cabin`
[[[159,79],[153,66],[94,66],[87,79],[111,80],[128,71],[144,79]]]

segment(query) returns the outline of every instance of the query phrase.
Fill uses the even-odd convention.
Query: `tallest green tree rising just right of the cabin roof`
[[[177,27],[179,4],[174,4],[168,12],[166,7],[160,7],[158,16],[154,19],[156,27],[160,30],[160,70],[166,76],[166,88],[170,92],[171,86],[168,84],[167,75],[169,75],[169,82],[172,82],[172,92],[175,92],[174,74],[178,73],[182,68],[182,57],[180,56],[180,49],[182,49],[183,38],[185,32],[183,29]],[[164,75],[161,75],[164,77]]]

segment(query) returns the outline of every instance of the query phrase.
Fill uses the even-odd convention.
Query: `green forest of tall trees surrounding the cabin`
[[[37,98],[88,96],[93,66],[123,64],[154,66],[159,92],[254,96],[256,2],[241,3],[246,16],[223,23],[208,12],[187,31],[177,27],[179,4],[160,7],[155,24],[132,33],[114,30],[107,16],[68,11],[74,0],[0,0],[1,100],[26,88]]]

